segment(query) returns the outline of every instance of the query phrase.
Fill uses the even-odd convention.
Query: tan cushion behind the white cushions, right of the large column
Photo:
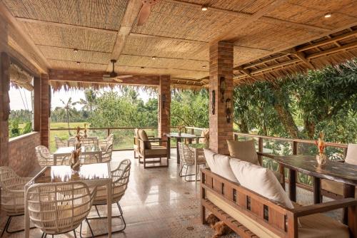
[[[229,155],[239,160],[251,162],[255,165],[259,165],[258,155],[256,153],[256,147],[254,140],[237,141],[227,140]]]

